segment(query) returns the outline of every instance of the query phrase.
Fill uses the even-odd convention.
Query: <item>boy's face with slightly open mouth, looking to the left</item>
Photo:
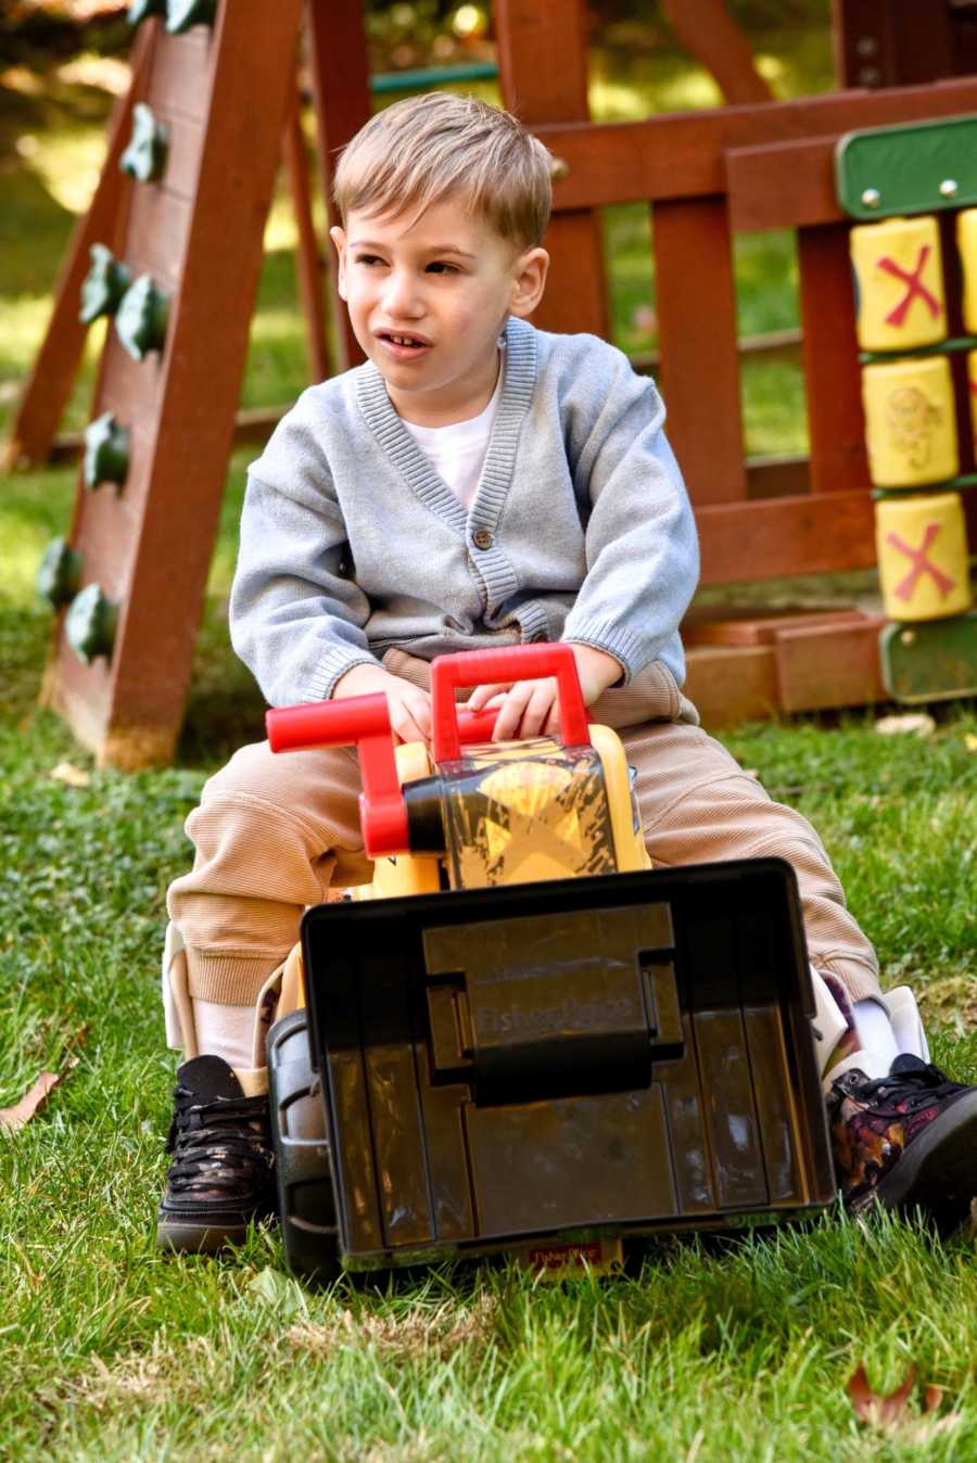
[[[506,319],[543,296],[546,250],[519,250],[450,199],[418,219],[351,212],[331,234],[352,331],[396,411],[429,427],[478,415]]]

